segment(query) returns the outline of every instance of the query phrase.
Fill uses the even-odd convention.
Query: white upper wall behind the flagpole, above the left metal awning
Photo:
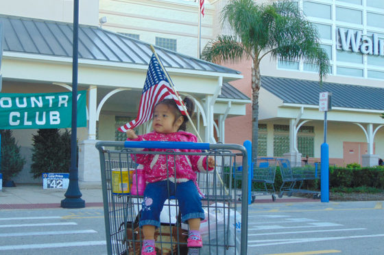
[[[177,40],[177,51],[197,57],[198,3],[182,0],[100,0],[99,17],[106,16],[104,29],[140,35],[155,44],[156,36]],[[213,7],[206,1],[202,18],[202,47],[213,38]]]

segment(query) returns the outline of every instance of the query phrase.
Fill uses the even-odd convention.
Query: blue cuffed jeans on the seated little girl
[[[165,200],[169,199],[169,196],[176,196],[182,222],[195,218],[204,219],[202,201],[192,180],[177,183],[176,185],[171,181],[161,180],[157,183],[148,183],[147,187],[145,187],[139,222],[140,227],[145,225],[160,227],[160,213],[163,210]]]

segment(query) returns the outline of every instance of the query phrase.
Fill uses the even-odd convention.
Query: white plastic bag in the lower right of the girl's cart
[[[211,204],[209,213],[204,211],[205,219],[200,224],[203,240],[200,254],[240,254],[241,214],[222,203]]]

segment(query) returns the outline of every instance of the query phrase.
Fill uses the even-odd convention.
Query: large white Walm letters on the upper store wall
[[[372,36],[363,36],[361,31],[355,32],[351,29],[339,27],[338,35],[339,44],[337,49],[384,56],[384,39],[379,39],[376,33],[372,33]]]

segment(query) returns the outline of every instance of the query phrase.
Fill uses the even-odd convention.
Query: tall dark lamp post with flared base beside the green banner
[[[65,198],[61,200],[62,208],[84,208],[85,201],[79,189],[79,173],[77,169],[77,59],[79,41],[79,0],[73,1],[73,57],[72,57],[72,128],[71,128],[71,168],[69,169],[69,185]]]

